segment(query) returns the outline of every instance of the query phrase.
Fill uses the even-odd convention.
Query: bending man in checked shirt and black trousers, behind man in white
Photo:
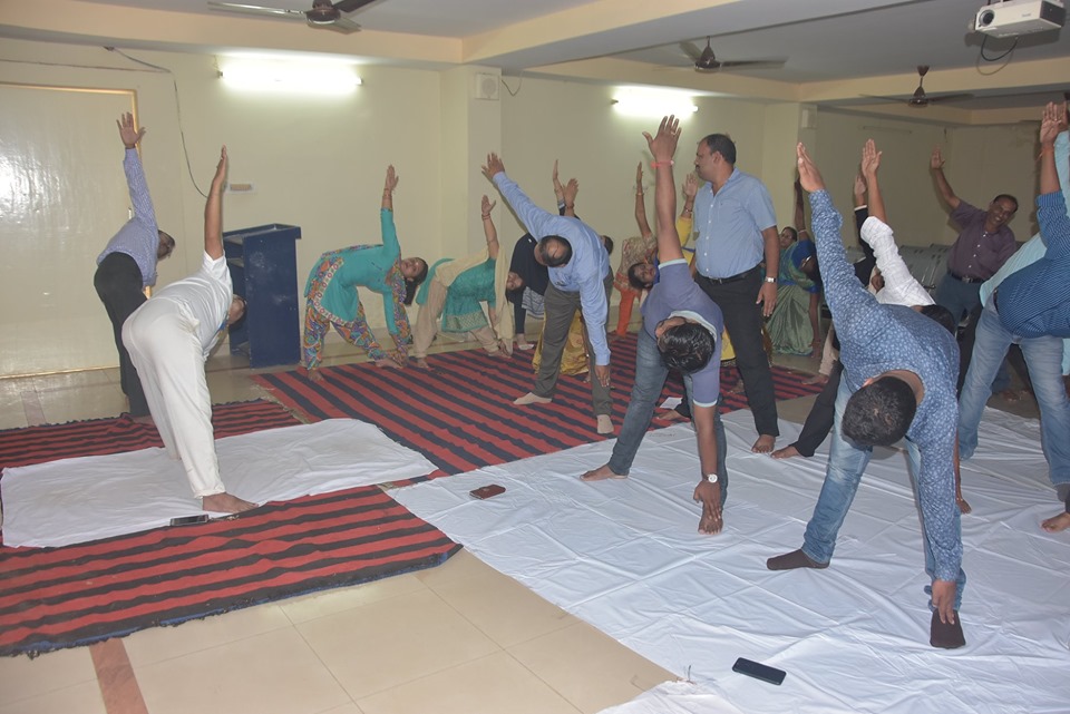
[[[123,345],[123,323],[145,302],[145,287],[156,284],[156,262],[175,250],[175,239],[156,227],[156,212],[148,195],[148,184],[137,155],[137,145],[145,136],[145,127],[134,126],[134,115],[123,115],[116,124],[119,138],[126,147],[123,169],[130,190],[134,217],[115,234],[97,257],[93,285],[108,311],[115,346],[119,351],[119,384],[130,401],[130,417],[137,421],[152,420],[148,402],[137,378],[137,370]]]

